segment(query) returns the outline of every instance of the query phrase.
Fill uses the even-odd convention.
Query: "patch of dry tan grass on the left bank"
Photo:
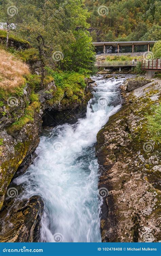
[[[14,89],[24,84],[24,75],[29,74],[29,67],[12,54],[0,49],[0,87]]]

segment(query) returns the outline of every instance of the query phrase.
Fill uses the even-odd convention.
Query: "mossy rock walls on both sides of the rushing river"
[[[156,242],[160,240],[160,142],[147,127],[147,115],[159,105],[160,81],[103,72],[103,80],[117,84],[120,78],[125,80],[122,107],[97,134],[99,189],[108,191],[101,207],[101,238],[102,242]],[[37,156],[42,124],[44,128],[73,125],[85,117],[96,86],[83,76],[74,81],[79,91],[61,90],[50,75],[42,88],[39,83],[39,74],[28,74],[21,88],[9,94],[1,91],[1,242],[39,241],[44,202],[39,194],[21,197],[24,188],[13,181]]]

